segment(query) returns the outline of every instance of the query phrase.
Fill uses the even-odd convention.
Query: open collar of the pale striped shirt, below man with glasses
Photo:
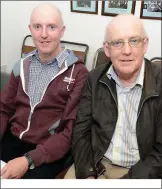
[[[142,63],[142,67],[141,67],[141,70],[138,74],[138,77],[136,79],[136,82],[135,82],[135,85],[139,85],[143,88],[143,81],[144,81],[144,71],[145,71],[145,61],[143,60],[143,63]],[[118,76],[117,74],[115,73],[114,71],[114,68],[113,68],[113,65],[110,66],[110,68],[108,69],[107,73],[106,73],[107,77],[109,79],[114,79],[115,82],[118,84],[118,85],[121,85],[120,82],[119,82],[119,79],[118,79]]]

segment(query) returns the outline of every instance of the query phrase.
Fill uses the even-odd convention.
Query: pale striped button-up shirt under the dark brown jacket
[[[107,72],[107,77],[114,79],[116,82],[118,120],[105,157],[112,164],[127,168],[133,166],[140,159],[136,137],[136,122],[143,88],[144,69],[145,63],[143,62],[136,83],[131,87],[125,88],[121,85],[113,66]]]

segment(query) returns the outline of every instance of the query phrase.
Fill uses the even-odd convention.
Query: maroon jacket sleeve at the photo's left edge
[[[7,128],[8,121],[11,116],[14,114],[16,105],[15,98],[17,95],[19,76],[15,77],[14,73],[11,72],[11,76],[8,84],[1,92],[1,126],[0,126],[0,141],[4,135],[4,132]]]

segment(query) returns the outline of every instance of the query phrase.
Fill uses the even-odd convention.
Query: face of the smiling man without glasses
[[[35,13],[29,29],[40,56],[57,56],[60,50],[60,39],[65,30],[57,14],[48,11]]]

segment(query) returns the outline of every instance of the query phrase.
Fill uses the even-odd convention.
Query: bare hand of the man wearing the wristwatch
[[[1,170],[3,179],[19,179],[28,170],[28,160],[25,157],[15,158],[9,161]]]

